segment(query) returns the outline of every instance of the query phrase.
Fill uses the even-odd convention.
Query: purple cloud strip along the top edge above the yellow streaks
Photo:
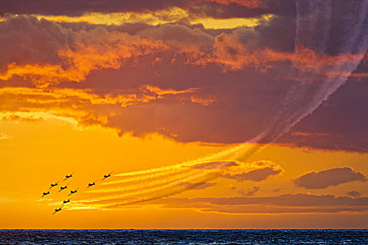
[[[256,3],[257,1],[253,1]],[[212,16],[214,18],[254,17],[266,13],[292,15],[295,12],[292,0],[269,1],[259,0],[256,4],[247,1],[200,1],[200,0],[105,0],[105,1],[43,1],[43,0],[13,0],[0,2],[0,14],[41,14],[78,16],[83,13],[117,13],[146,12],[165,8],[179,7],[189,10],[191,15]]]

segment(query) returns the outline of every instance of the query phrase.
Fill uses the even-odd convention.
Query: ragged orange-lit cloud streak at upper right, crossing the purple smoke
[[[318,55],[315,51],[299,46],[294,53],[278,52],[271,48],[252,50],[238,41],[238,34],[220,34],[216,36],[214,42],[214,52],[211,57],[206,57],[206,61],[198,62],[206,64],[214,62],[221,64],[224,71],[237,71],[247,67],[255,67],[261,71],[273,68],[280,62],[291,62],[299,71],[309,71],[323,76],[349,76],[350,70],[340,71],[331,68],[337,64],[355,62],[361,59],[358,55]]]

